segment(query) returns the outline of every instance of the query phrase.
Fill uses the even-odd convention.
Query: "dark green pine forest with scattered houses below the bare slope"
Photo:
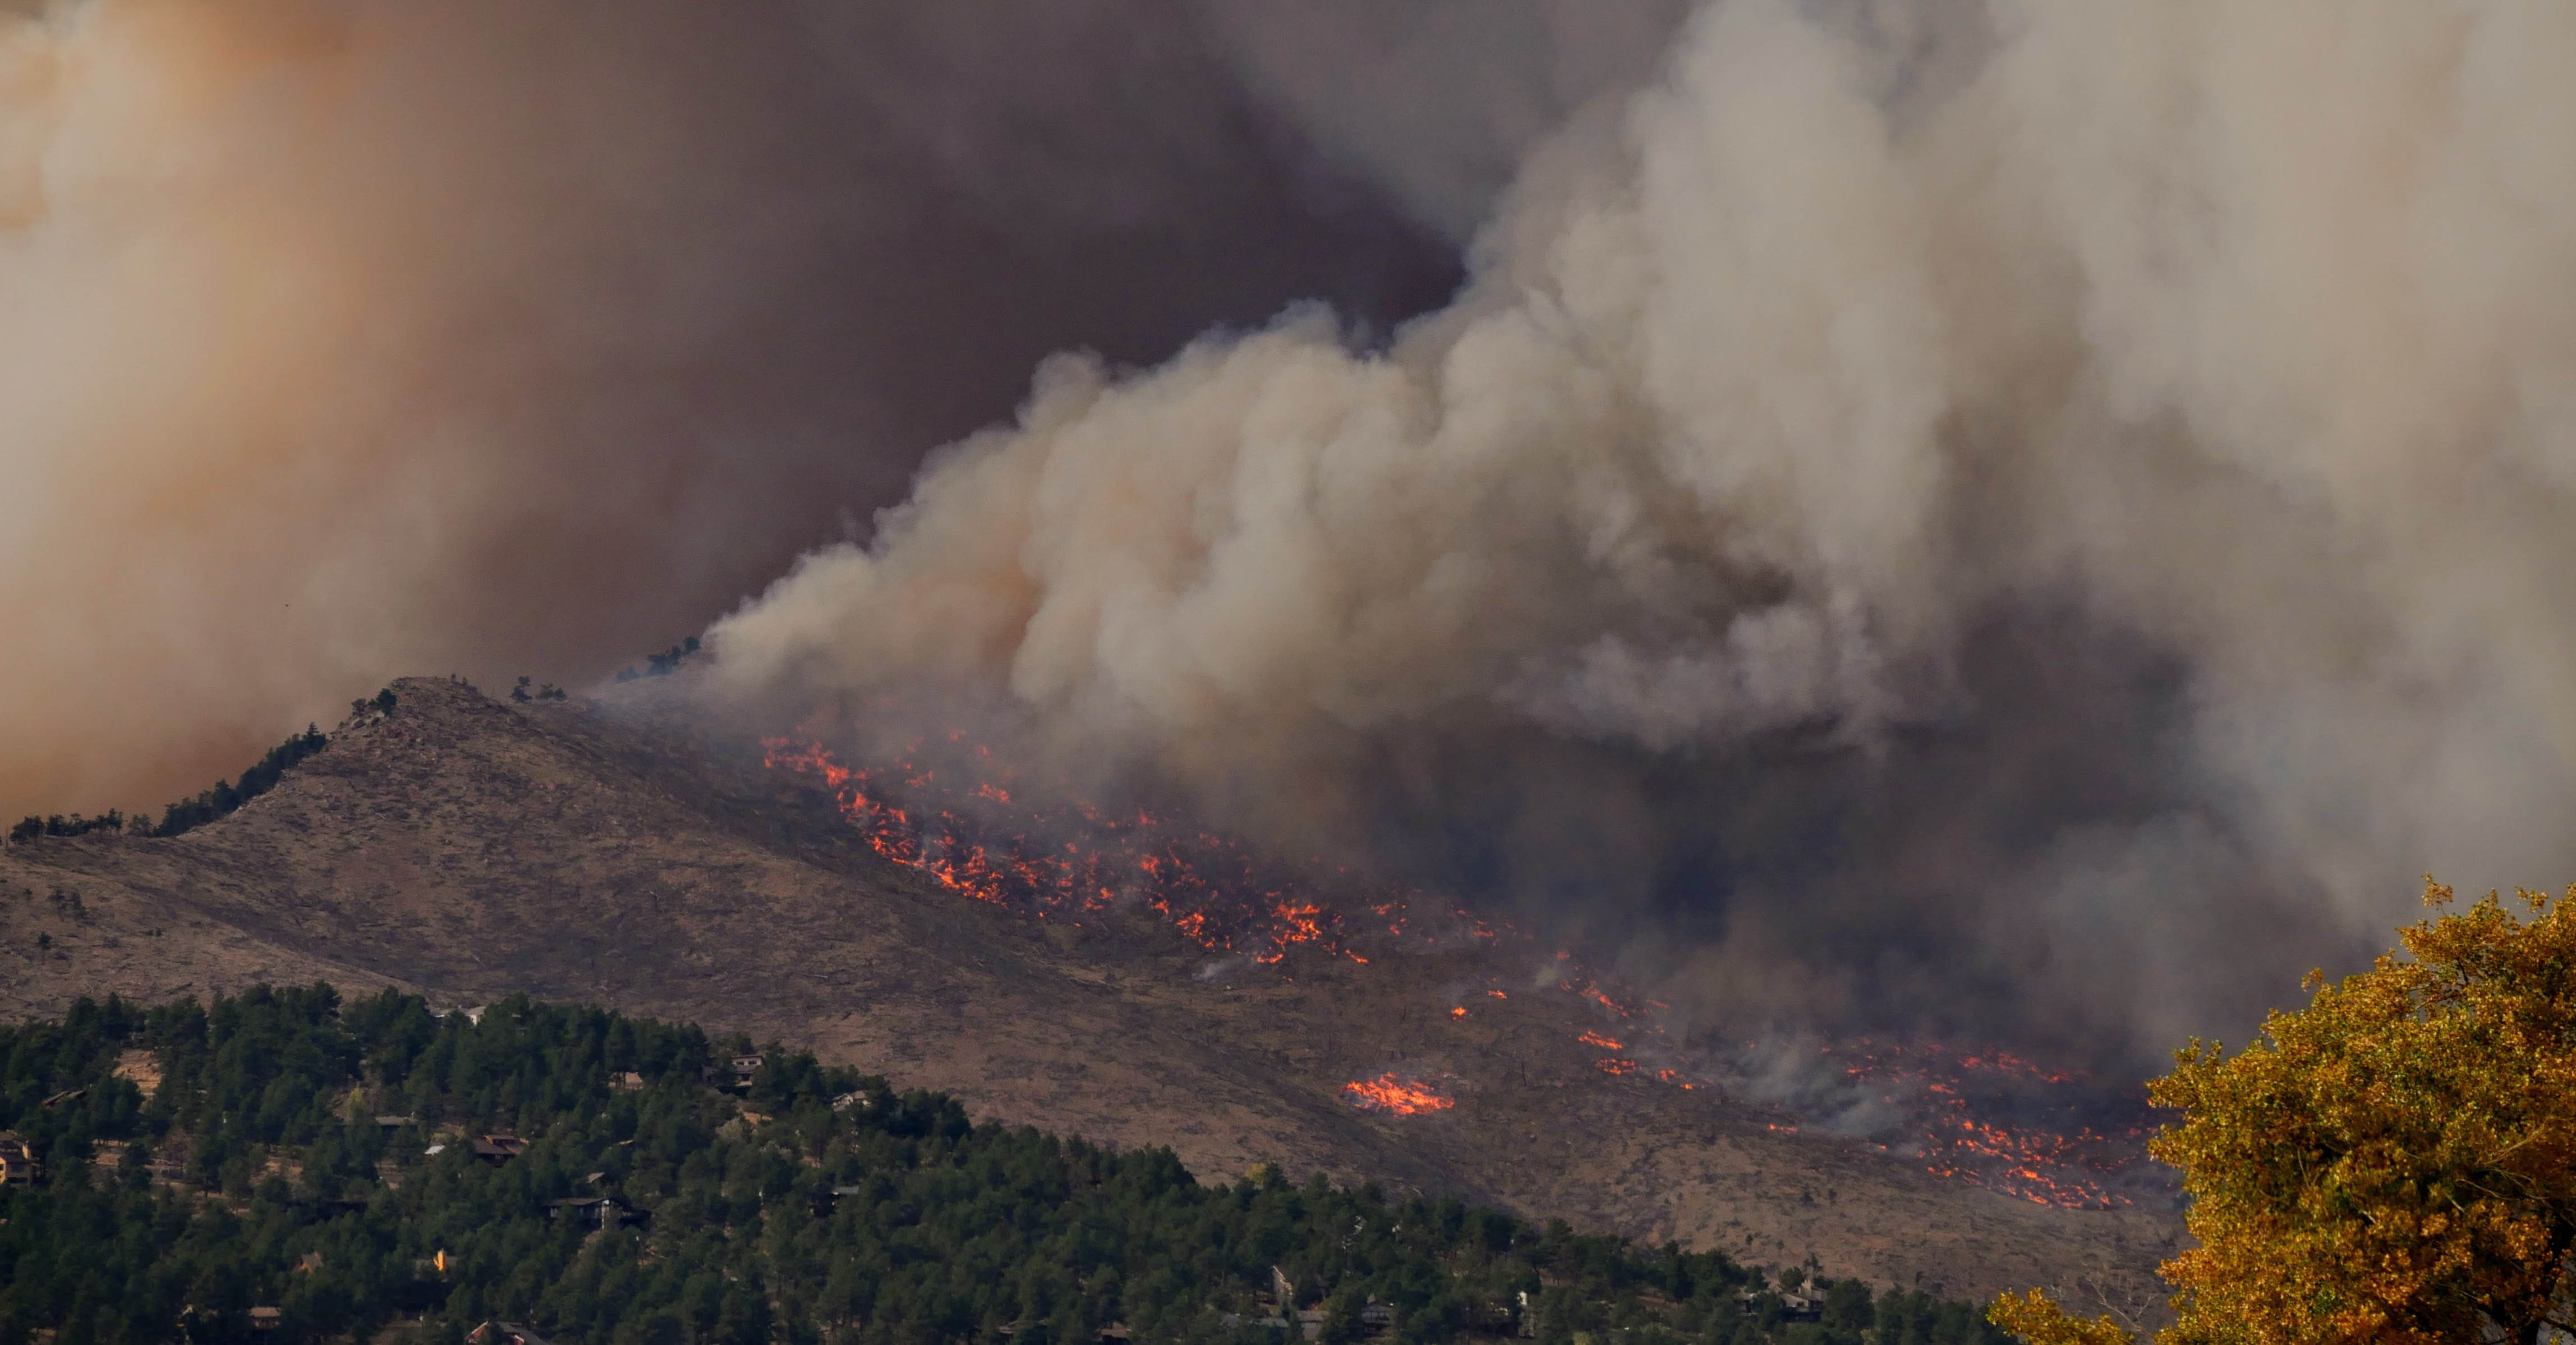
[[[1971,1304],[1458,1201],[1208,1185],[1170,1149],[979,1126],[775,1046],[719,1087],[739,1054],[598,1007],[469,1020],[327,984],[5,1028],[0,1129],[44,1178],[0,1188],[0,1345],[456,1345],[484,1319],[559,1345],[1273,1345],[1273,1265],[1334,1345],[1515,1337],[1520,1293],[1546,1342],[2009,1340]],[[484,1134],[526,1149],[477,1157]],[[634,1216],[549,1206],[592,1196]],[[1819,1322],[1785,1319],[1801,1283]]]

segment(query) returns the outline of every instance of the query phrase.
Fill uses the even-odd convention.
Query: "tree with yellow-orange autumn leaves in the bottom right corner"
[[[2200,1245],[2164,1263],[2159,1340],[2537,1345],[2576,1330],[2576,886],[2494,894],[2401,930],[2406,959],[2329,984],[2228,1056],[2192,1041],[2148,1085],[2184,1118]],[[2424,902],[2452,892],[2427,879]],[[2112,1345],[2043,1293],[1986,1314],[2035,1345]]]

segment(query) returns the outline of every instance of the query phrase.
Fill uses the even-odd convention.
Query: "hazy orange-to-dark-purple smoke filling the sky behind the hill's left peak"
[[[0,809],[165,801],[394,675],[598,678],[1048,350],[1443,301],[1662,44],[1417,36],[1466,8],[0,3]],[[1409,108],[1437,165],[1360,134]]]

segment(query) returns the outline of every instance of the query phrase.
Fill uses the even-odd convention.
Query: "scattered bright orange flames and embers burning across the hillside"
[[[1672,1033],[1667,1005],[1605,979],[1574,951],[1540,953],[1528,935],[1422,892],[1262,855],[1151,809],[1087,804],[1061,786],[1023,781],[963,734],[914,742],[873,768],[801,739],[765,747],[773,770],[827,791],[868,850],[958,897],[1066,925],[1105,920],[1121,904],[1149,910],[1190,943],[1262,966],[1283,966],[1291,953],[1368,966],[1394,951],[1517,948],[1543,966],[1543,987],[1600,1023],[1574,1038],[1589,1049],[1577,1056],[1582,1067],[1631,1080],[1620,1087],[1765,1092],[1759,1067]],[[1510,997],[1499,987],[1484,995]],[[1466,1018],[1466,1007],[1448,1018]],[[1772,1131],[1801,1134],[1806,1123],[1803,1134],[1844,1134],[1935,1175],[2045,1206],[2123,1206],[2138,1190],[2164,1190],[2146,1162],[2143,1108],[2107,1100],[2092,1080],[1996,1049],[1857,1041],[1821,1054],[1808,1072],[1834,1082],[1790,1098],[1790,1116]],[[1391,1116],[1453,1105],[1435,1085],[1401,1074],[1355,1080],[1342,1095]],[[1870,1123],[1855,1126],[1862,1108]]]

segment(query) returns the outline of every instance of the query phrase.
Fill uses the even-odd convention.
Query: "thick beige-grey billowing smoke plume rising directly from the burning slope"
[[[1651,920],[1708,1010],[2241,1036],[2427,868],[2576,876],[2571,67],[2540,0],[1721,0],[1445,312],[1051,358],[714,644]]]

